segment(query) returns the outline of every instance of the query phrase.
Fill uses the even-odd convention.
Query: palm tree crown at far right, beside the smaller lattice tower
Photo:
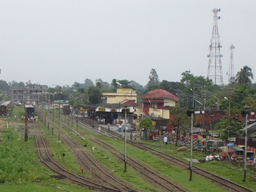
[[[253,80],[252,69],[249,66],[244,66],[240,72],[236,74],[236,82],[238,84],[251,85]]]

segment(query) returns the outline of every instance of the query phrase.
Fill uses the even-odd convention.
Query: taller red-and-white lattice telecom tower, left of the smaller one
[[[217,13],[220,12],[220,9],[213,9],[214,12],[214,27],[212,29],[211,36],[211,45],[210,54],[208,54],[209,62],[208,62],[208,74],[207,77],[209,80],[212,80],[214,84],[222,85],[223,77],[222,77],[222,56],[220,54],[220,38],[219,38],[219,30],[218,30],[218,17]]]

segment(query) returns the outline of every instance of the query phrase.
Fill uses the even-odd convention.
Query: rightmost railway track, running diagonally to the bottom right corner
[[[80,120],[81,123],[84,123],[84,125],[89,126],[90,128],[95,128],[97,129],[97,126],[92,126],[89,122],[85,120]],[[119,135],[117,136],[116,134],[113,134],[113,132],[102,129],[101,130],[102,134],[108,134],[108,137],[113,137],[115,139],[124,139],[123,137],[120,137]],[[148,147],[148,145],[143,144],[142,142],[136,142],[136,141],[129,141],[127,142],[130,145],[133,145],[135,147],[140,148],[141,150],[146,150],[151,154],[157,155],[158,157],[164,159],[167,163],[174,165],[174,166],[179,166],[183,169],[189,169],[189,163],[181,161],[178,158],[175,158],[171,155],[168,155],[166,153],[162,153],[158,150],[154,150],[151,147]],[[192,171],[196,174],[200,174],[203,177],[206,177],[208,180],[211,180],[213,183],[217,183],[217,185],[222,186],[223,188],[229,190],[229,191],[252,191],[249,188],[245,188],[242,185],[238,185],[237,183],[233,183],[230,180],[225,179],[224,177],[220,177],[217,174],[213,174],[211,172],[208,172],[204,169],[201,169],[200,167],[197,166],[192,166]],[[252,191],[253,192],[253,191]]]

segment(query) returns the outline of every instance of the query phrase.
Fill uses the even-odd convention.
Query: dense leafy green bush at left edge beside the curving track
[[[37,157],[14,128],[5,128],[0,145],[0,183],[24,183],[38,179]]]

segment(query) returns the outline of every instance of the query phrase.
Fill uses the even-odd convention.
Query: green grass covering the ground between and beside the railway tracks
[[[70,125],[70,122],[69,122],[69,125]],[[74,123],[73,125],[74,125],[74,129],[76,130],[76,124]],[[5,126],[6,126],[6,123],[5,123]],[[58,134],[56,130],[54,131],[54,135],[52,135],[51,128],[48,131],[48,123],[46,123],[46,126],[44,123],[40,123],[40,126],[44,133],[44,137],[48,139],[48,142],[52,147],[54,158],[59,162],[61,162],[61,164],[65,166],[67,169],[69,169],[70,171],[80,173],[78,160],[74,157],[72,151],[69,150],[69,147],[64,145],[64,142],[62,141],[59,145]],[[18,127],[18,128],[15,127],[13,129],[22,130],[23,127]],[[133,188],[137,188],[139,191],[150,191],[150,188],[157,190],[156,188],[154,188],[154,186],[151,183],[146,183],[143,180],[143,178],[140,177],[140,174],[136,170],[132,169],[132,167],[127,166],[127,172],[124,173],[124,162],[119,161],[111,153],[109,153],[102,147],[97,146],[96,144],[94,144],[94,142],[91,142],[90,140],[91,133],[89,133],[89,131],[86,131],[85,129],[80,127],[78,127],[78,131],[83,132],[82,136],[85,138],[85,140],[75,136],[74,134],[71,133],[71,131],[67,131],[67,133],[69,133],[72,138],[77,139],[81,145],[84,145],[86,143],[87,147],[85,147],[84,149],[88,153],[91,153],[91,146],[96,146],[98,149],[97,153],[93,153],[93,154],[91,153],[91,155],[97,158],[97,160],[101,164],[103,164],[105,167],[108,167],[108,170],[110,172],[115,174],[117,177],[120,177],[121,180],[123,180],[124,182],[130,183],[133,186]],[[49,172],[50,174],[54,174],[54,173],[50,172],[49,169],[45,168],[45,166],[42,166],[42,164],[39,162],[37,157],[37,150],[35,150],[35,146],[34,146],[34,139],[31,135],[29,135],[29,141],[25,143],[23,142],[23,134],[20,134],[18,139],[15,139],[16,137],[15,133],[12,133],[13,135],[10,134],[8,137],[4,135],[5,134],[4,131],[0,132],[0,134],[1,134],[0,137],[2,140],[2,142],[0,142],[1,147],[4,145],[7,145],[6,138],[9,138],[11,145],[7,145],[8,149],[10,149],[11,147],[13,148],[17,147],[16,150],[13,150],[15,151],[15,153],[17,153],[17,151],[20,150],[20,147],[22,147],[21,151],[26,152],[25,158],[20,155],[19,156],[15,156],[11,154],[4,155],[4,157],[0,158],[0,161],[3,161],[2,159],[5,159],[4,161],[6,162],[4,163],[4,166],[7,166],[7,162],[15,162],[10,157],[15,158],[15,160],[20,162],[28,161],[28,160],[30,162],[29,164],[26,164],[25,162],[24,166],[21,166],[22,169],[14,169],[13,172],[10,172],[11,179],[5,180],[4,184],[0,185],[1,191],[18,191],[18,190],[20,191],[60,191],[58,187],[61,187],[62,189],[69,190],[69,191],[87,191],[86,188],[82,188],[78,185],[72,185],[72,184],[66,183],[63,180],[53,179],[53,177],[49,177],[48,174],[45,174],[45,172]],[[14,140],[12,139],[12,137]],[[120,142],[115,139],[109,139],[108,137],[104,137],[104,136],[94,135],[93,137],[102,139],[105,142],[108,142],[110,145],[113,145],[114,147],[116,147],[118,150],[124,151],[124,142]],[[4,139],[4,142],[3,142],[3,139]],[[146,141],[146,143],[147,142],[152,144],[152,142],[150,141]],[[175,145],[163,145],[162,142],[154,142],[154,144],[156,145],[155,148],[157,150],[161,150],[165,153],[169,153],[170,155],[174,155],[177,158],[181,158],[182,160],[184,160],[184,158],[189,158],[189,152],[177,153],[177,147]],[[64,158],[61,155],[62,153],[66,154]],[[143,162],[143,164],[146,164],[146,166],[148,166],[149,168],[156,170],[157,172],[161,173],[165,177],[169,177],[171,180],[178,183],[178,185],[182,185],[184,188],[189,189],[189,191],[222,191],[222,189],[219,188],[217,185],[214,185],[210,181],[203,179],[197,174],[192,174],[192,181],[189,181],[188,170],[178,169],[176,166],[171,166],[170,164],[166,164],[165,161],[163,161],[162,159],[159,159],[154,155],[151,155],[150,153],[146,153],[146,152],[143,152],[142,150],[138,150],[138,148],[132,147],[129,144],[127,145],[127,155],[131,156],[132,158],[138,159],[138,161]],[[206,155],[207,154],[201,155],[200,153],[193,152],[193,158],[196,158],[196,159],[204,158]],[[225,162],[208,161],[204,164],[195,164],[195,166],[200,166],[203,169],[219,174],[222,177],[233,180],[235,183],[244,185],[247,188],[251,188],[252,190],[256,191],[255,182],[249,181],[249,177],[247,177],[246,183],[243,183],[241,181],[243,179],[243,175],[241,175],[241,173],[233,172],[232,170],[222,166],[222,164],[225,164]],[[11,165],[15,165],[15,163]],[[230,164],[228,165],[231,166]],[[10,169],[12,169],[12,167],[7,166],[4,168],[4,172],[7,172],[7,170],[10,170]],[[26,172],[25,173],[20,172],[20,174],[17,174],[17,172],[19,172],[20,170],[26,170]],[[33,170],[33,172],[31,171],[29,172],[29,170]],[[2,168],[0,169],[0,180],[1,180],[1,177],[3,176],[1,172],[2,172]],[[89,173],[84,173],[83,175],[86,177],[91,177],[91,174]],[[40,180],[40,182],[37,183],[36,182],[37,180]],[[19,187],[19,189],[17,187]]]

